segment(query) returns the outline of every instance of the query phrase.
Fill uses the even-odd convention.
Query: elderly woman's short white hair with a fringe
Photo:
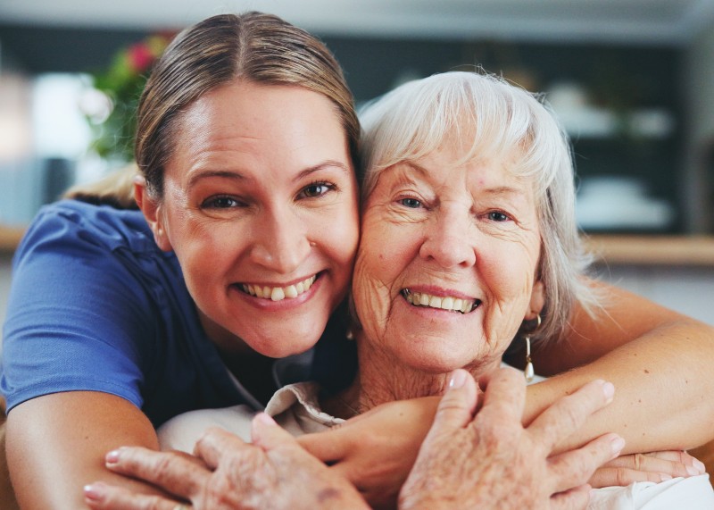
[[[395,88],[366,105],[360,120],[362,200],[381,171],[428,155],[454,135],[464,162],[517,152],[512,171],[534,182],[542,237],[538,277],[546,299],[536,335],[559,339],[576,301],[585,310],[596,305],[582,278],[590,257],[575,219],[569,140],[537,96],[483,72],[445,72]]]

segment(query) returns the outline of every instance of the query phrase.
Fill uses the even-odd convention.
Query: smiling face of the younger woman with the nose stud
[[[359,236],[336,107],[304,88],[237,81],[180,122],[153,227],[204,328],[232,352],[312,347],[345,297]]]

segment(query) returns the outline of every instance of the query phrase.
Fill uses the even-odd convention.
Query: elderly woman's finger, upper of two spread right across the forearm
[[[580,429],[587,418],[612,401],[615,387],[604,380],[588,382],[572,395],[562,397],[528,426],[536,444],[548,450]]]

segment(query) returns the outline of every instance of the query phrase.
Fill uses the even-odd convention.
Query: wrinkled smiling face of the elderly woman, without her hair
[[[355,262],[367,341],[427,372],[497,363],[542,298],[530,181],[460,156],[444,144],[380,174]]]

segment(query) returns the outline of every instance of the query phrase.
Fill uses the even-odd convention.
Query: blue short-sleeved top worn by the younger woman
[[[40,211],[13,260],[2,357],[9,409],[103,391],[158,426],[251,403],[203,332],[176,256],[156,246],[139,211],[69,200]]]

